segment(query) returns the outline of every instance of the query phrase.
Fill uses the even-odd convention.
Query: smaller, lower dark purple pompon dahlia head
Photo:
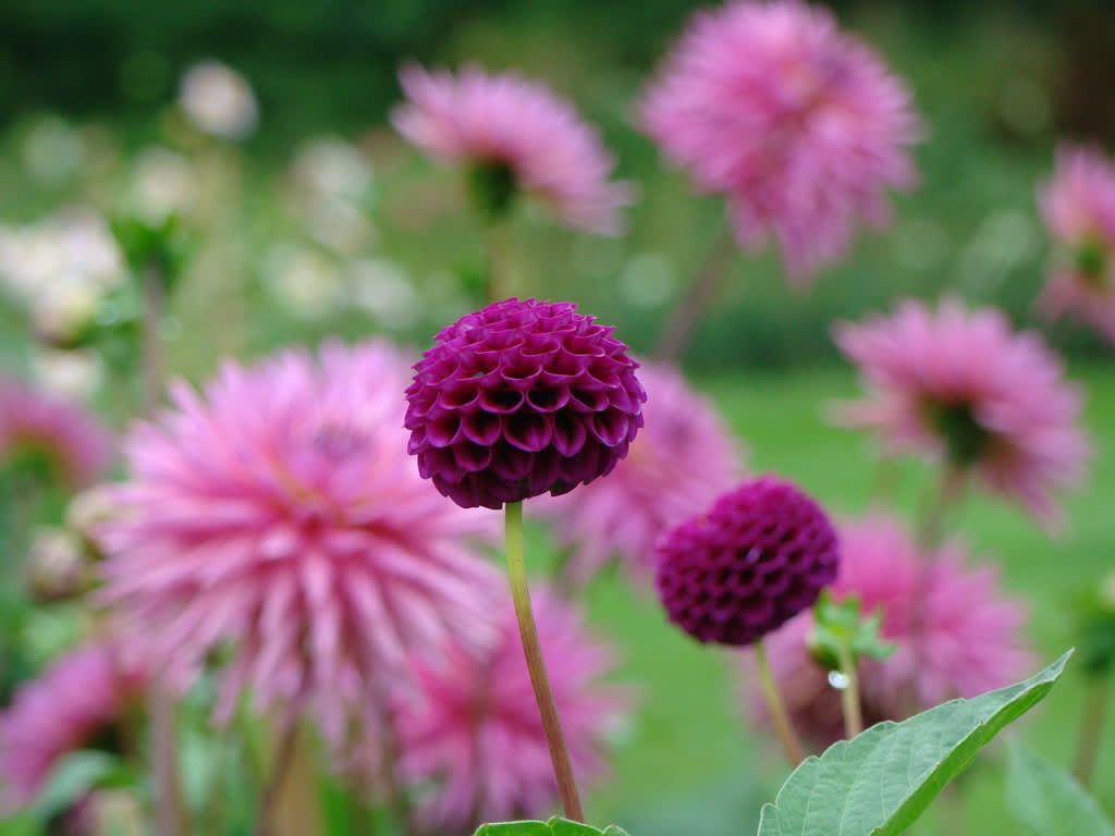
[[[821,506],[764,476],[663,535],[656,585],[670,621],[691,636],[745,645],[812,606],[838,564]]]

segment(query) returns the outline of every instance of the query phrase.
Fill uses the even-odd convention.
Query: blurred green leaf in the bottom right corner
[[[1038,836],[1115,836],[1111,820],[1076,778],[1018,745],[1010,747],[1007,806]]]

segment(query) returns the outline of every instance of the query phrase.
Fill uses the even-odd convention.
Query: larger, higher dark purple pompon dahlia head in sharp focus
[[[610,473],[642,426],[638,363],[572,302],[508,299],[444,329],[407,389],[418,470],[466,508]]]

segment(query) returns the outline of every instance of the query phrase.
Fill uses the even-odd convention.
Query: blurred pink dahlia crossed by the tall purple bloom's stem
[[[579,779],[598,776],[609,729],[628,694],[599,679],[614,667],[581,614],[544,589],[534,612],[554,702]],[[510,596],[482,653],[450,644],[444,663],[415,663],[417,697],[397,706],[404,777],[428,785],[419,817],[437,833],[471,833],[482,822],[536,818],[558,797]]]

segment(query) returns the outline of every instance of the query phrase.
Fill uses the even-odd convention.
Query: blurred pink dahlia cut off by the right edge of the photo
[[[1072,314],[1115,342],[1115,163],[1098,150],[1063,146],[1038,194],[1061,253],[1039,304]]]

